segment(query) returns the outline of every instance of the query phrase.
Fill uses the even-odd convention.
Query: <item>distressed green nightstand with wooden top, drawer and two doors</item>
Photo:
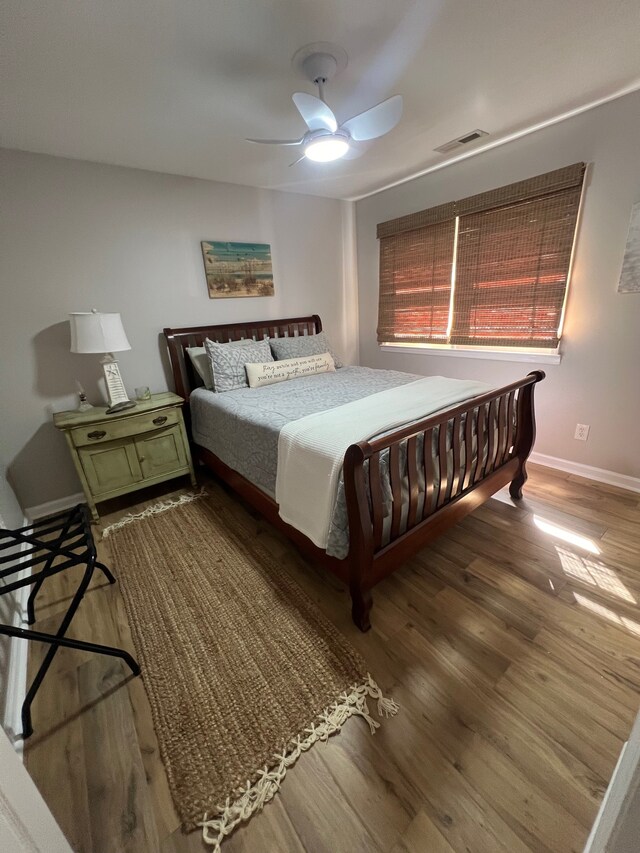
[[[183,403],[182,397],[167,391],[116,415],[97,407],[53,416],[67,439],[94,521],[96,502],[184,474],[196,485]]]

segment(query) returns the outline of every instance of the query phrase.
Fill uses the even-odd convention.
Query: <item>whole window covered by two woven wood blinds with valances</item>
[[[555,349],[584,170],[378,225],[378,341]]]

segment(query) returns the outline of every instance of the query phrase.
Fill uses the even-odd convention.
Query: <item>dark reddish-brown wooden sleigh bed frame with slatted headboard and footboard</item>
[[[205,338],[225,343],[242,338],[313,335],[321,330],[317,315],[164,329],[176,393],[188,400],[191,391],[202,384],[186,348],[203,346]],[[513,498],[522,497],[526,462],[535,439],[534,388],[544,376],[543,371],[534,371],[511,385],[381,438],[352,444],[344,458],[349,523],[349,552],[345,559],[329,556],[285,523],[269,495],[211,451],[195,443],[192,449],[198,461],[282,530],[304,554],[348,586],[353,621],[366,631],[371,627],[371,590],[379,581],[507,483]],[[185,420],[191,436],[188,411]],[[406,453],[401,452],[403,445]],[[427,452],[434,445],[435,452]],[[420,447],[423,452],[418,454]],[[393,498],[386,527],[380,479],[383,454],[388,454]]]

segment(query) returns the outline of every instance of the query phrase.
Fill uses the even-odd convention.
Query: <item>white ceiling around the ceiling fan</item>
[[[640,87],[638,0],[2,0],[0,145],[350,198]],[[339,120],[400,93],[404,116],[356,160],[302,162],[296,50],[349,55]],[[486,141],[486,140],[485,140]]]

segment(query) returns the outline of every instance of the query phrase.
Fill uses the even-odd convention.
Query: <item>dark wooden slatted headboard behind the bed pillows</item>
[[[205,338],[218,343],[239,341],[242,338],[292,338],[298,335],[317,335],[322,321],[317,314],[310,317],[287,317],[284,320],[257,320],[250,323],[225,323],[220,326],[189,326],[185,329],[163,329],[169,347],[176,394],[185,400],[194,388],[202,385],[186,353],[187,347],[204,346]]]

